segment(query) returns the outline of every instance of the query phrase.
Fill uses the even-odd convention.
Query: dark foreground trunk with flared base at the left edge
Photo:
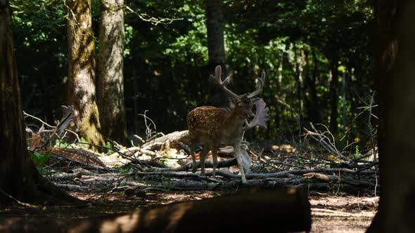
[[[25,140],[25,123],[11,34],[8,0],[0,0],[0,204],[74,201],[41,177]]]

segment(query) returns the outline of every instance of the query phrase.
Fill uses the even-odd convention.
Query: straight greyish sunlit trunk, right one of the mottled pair
[[[98,106],[103,135],[127,142],[124,102],[124,0],[101,0]]]

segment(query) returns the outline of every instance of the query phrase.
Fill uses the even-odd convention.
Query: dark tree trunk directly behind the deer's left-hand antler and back
[[[208,0],[206,4],[206,27],[208,29],[208,70],[213,74],[217,65],[222,66],[222,73],[226,76],[225,44],[224,44],[224,13],[223,0]],[[208,75],[205,77],[208,78]],[[219,91],[219,88],[210,86],[210,105],[226,105],[227,98]]]

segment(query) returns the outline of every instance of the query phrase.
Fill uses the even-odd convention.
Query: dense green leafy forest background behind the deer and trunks
[[[99,51],[100,3],[91,2]],[[53,122],[68,101],[67,6],[54,0],[16,0],[11,6],[23,109]],[[224,105],[208,85],[217,64],[208,56],[205,1],[125,1],[124,7],[130,138],[145,134],[139,114],[170,133],[186,129],[194,107]],[[374,96],[370,1],[223,1],[219,9],[231,90],[253,91],[255,78],[267,72],[262,98],[270,109],[268,129],[250,131],[248,139],[298,142],[312,122],[327,126],[340,145],[369,145],[369,126],[376,125],[368,111]]]

